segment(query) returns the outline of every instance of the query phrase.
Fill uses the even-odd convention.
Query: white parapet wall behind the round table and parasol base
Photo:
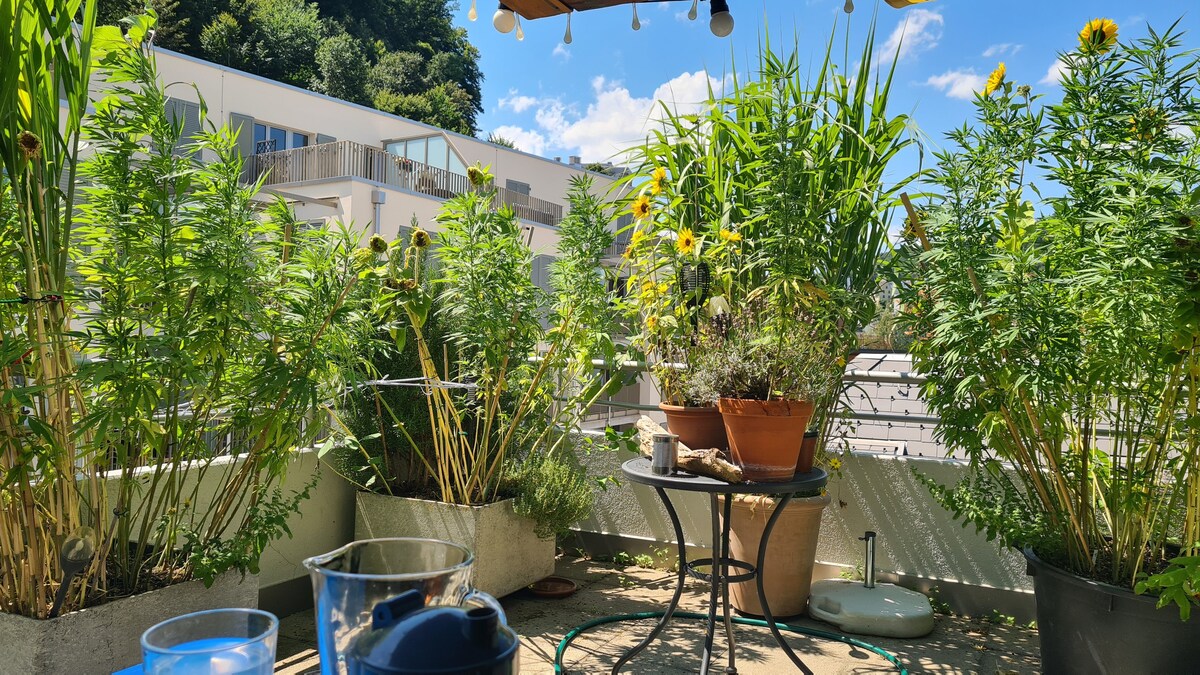
[[[630,456],[596,453],[584,461],[590,473],[619,476],[620,462]],[[864,546],[859,537],[871,530],[878,536],[876,569],[882,580],[924,591],[937,589],[943,599],[968,614],[998,609],[1019,619],[1032,617],[1032,585],[1021,555],[954,520],[932,500],[914,471],[953,484],[966,474],[967,466],[959,460],[860,452],[845,459],[841,476],[832,478],[828,486],[832,503],[821,524],[817,577],[862,566]],[[668,496],[689,546],[709,548],[708,497],[678,491]],[[654,489],[646,485],[626,482],[608,488],[598,496],[592,518],[580,522],[577,531],[584,548],[594,552],[670,548],[673,560],[674,531]]]

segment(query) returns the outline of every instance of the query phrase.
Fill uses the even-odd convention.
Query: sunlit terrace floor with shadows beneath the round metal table
[[[640,567],[614,567],[586,558],[559,558],[557,573],[580,584],[564,599],[544,599],[520,591],[502,602],[509,625],[522,637],[521,673],[554,671],[554,651],[563,635],[581,623],[601,616],[658,611],[666,608],[674,590],[674,574]],[[679,609],[704,611],[707,584],[689,580]],[[838,632],[827,623],[791,621]],[[598,626],[576,638],[564,655],[564,673],[606,674],[622,653],[653,628],[653,620]],[[742,675],[794,673],[787,656],[775,646],[767,628],[734,626],[737,665]],[[788,634],[788,644],[816,674],[895,673],[887,659],[842,643]],[[1038,673],[1038,640],[1033,631],[976,619],[937,616],[930,635],[908,640],[854,635],[895,655],[910,673],[980,673],[1009,675]],[[703,621],[676,619],[662,635],[628,663],[623,673],[698,673],[703,646]],[[721,626],[714,641],[713,671],[724,673],[725,640]],[[312,611],[289,616],[280,627],[276,673],[316,673],[317,652]]]

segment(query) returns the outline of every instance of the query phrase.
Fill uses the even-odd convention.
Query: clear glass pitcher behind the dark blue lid
[[[491,607],[500,603],[470,587],[475,556],[438,539],[364,539],[304,561],[312,578],[322,675],[354,675],[354,641],[371,629],[374,605],[420,591],[426,605]]]

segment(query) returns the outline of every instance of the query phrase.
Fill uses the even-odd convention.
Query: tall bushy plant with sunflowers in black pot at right
[[[938,436],[976,470],[934,494],[1024,549],[1046,671],[1200,658],[1200,98],[1180,44],[1091,20],[1049,106],[997,68],[894,268]]]

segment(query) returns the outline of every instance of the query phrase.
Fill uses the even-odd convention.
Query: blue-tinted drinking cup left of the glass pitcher
[[[271,675],[280,620],[258,609],[210,609],[142,634],[146,675]]]

